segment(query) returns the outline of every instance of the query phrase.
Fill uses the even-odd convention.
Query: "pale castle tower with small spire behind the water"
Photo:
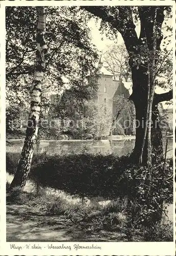
[[[112,117],[112,123],[110,123],[110,125],[108,124],[104,136],[109,136],[110,134],[131,135],[132,133],[127,125],[130,120],[130,113],[123,111],[123,109],[125,109],[125,105],[128,104],[127,99],[131,94],[130,89],[132,83],[115,80],[113,74],[103,66],[101,57],[98,62],[98,73],[98,89],[95,100],[99,108],[101,108],[100,111]],[[62,95],[51,95],[50,111],[52,111],[54,106],[60,104],[61,98]],[[119,111],[120,109],[121,111]],[[113,119],[116,122],[113,122]],[[120,127],[117,124],[120,124]]]

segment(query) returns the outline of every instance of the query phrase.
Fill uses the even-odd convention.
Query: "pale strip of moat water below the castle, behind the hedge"
[[[163,139],[165,151],[166,138]],[[135,139],[121,140],[63,140],[63,141],[41,141],[39,152],[48,154],[80,154],[88,152],[93,154],[117,154],[118,156],[129,154],[133,151]],[[36,151],[36,147],[35,147]],[[167,157],[172,156],[172,139],[168,139]]]

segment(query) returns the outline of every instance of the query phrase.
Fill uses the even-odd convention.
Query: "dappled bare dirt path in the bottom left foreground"
[[[7,205],[7,242],[119,242],[125,234],[86,230],[63,216],[46,216],[24,205]]]

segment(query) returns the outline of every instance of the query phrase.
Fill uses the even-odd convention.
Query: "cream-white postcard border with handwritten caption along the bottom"
[[[173,242],[6,242],[6,131],[5,131],[5,6],[77,6],[77,5],[170,5],[173,6],[173,31],[175,31],[175,3],[167,0],[96,0],[96,1],[1,1],[1,226],[0,226],[0,254],[1,255],[175,255],[175,218]],[[173,33],[174,34],[174,33]],[[175,129],[175,38],[173,35],[173,125]],[[175,148],[175,134],[173,133],[173,148]],[[173,159],[174,159],[173,150]],[[175,161],[173,161],[175,176]],[[173,176],[173,179],[174,179]],[[175,183],[174,183],[175,202]],[[174,208],[174,207],[173,207]],[[173,216],[175,216],[173,209]],[[70,246],[68,249],[48,249],[51,246]],[[77,249],[79,246],[94,246],[93,249]],[[32,249],[32,246],[41,246],[42,249]],[[28,247],[29,246],[29,247]],[[14,247],[14,248],[12,248]],[[15,248],[16,247],[16,248]],[[97,247],[97,248],[95,248]],[[101,247],[101,249],[98,249]]]

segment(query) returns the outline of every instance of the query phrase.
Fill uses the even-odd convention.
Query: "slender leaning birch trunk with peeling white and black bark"
[[[37,22],[37,50],[36,50],[36,66],[34,79],[32,82],[31,90],[31,108],[28,118],[28,125],[26,130],[26,138],[23,143],[20,159],[18,161],[16,173],[10,188],[20,186],[23,188],[26,184],[30,168],[31,161],[34,152],[34,145],[38,134],[38,122],[40,115],[40,102],[42,92],[42,79],[45,70],[45,61],[47,47],[45,42],[45,25],[46,16],[44,7],[36,7],[38,22]]]

